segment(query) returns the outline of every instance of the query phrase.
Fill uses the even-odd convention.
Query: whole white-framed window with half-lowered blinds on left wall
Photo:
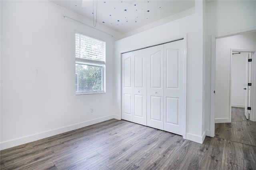
[[[105,92],[106,43],[76,33],[76,94]]]

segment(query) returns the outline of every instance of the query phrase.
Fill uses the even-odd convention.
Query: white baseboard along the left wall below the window
[[[21,144],[26,144],[28,142],[33,142],[33,141],[36,141],[36,140],[40,140],[40,139],[43,139],[43,138],[47,138],[47,137],[50,137],[50,136],[54,136],[54,135],[57,135],[57,134],[68,132],[70,130],[83,128],[83,127],[90,126],[92,124],[96,124],[96,123],[100,123],[100,122],[104,122],[106,120],[110,120],[110,119],[113,119],[113,118],[114,119],[118,118],[118,115],[104,116],[104,117],[101,117],[101,118],[88,120],[88,121],[85,121],[85,122],[80,122],[80,123],[77,123],[77,124],[72,124],[72,125],[69,125],[69,126],[61,127],[61,128],[56,128],[56,129],[48,130],[48,131],[45,131],[45,132],[40,132],[40,133],[37,133],[37,134],[32,134],[32,135],[22,136],[20,138],[12,139],[12,140],[7,140],[7,141],[4,141],[4,142],[0,143],[0,150],[4,150],[4,149],[11,148],[11,147],[14,147],[14,146],[18,146],[18,145],[21,145]]]

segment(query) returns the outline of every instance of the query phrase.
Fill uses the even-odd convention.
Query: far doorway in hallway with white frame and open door
[[[244,108],[244,116],[250,120],[251,71],[255,51],[230,50],[230,122],[232,107]]]

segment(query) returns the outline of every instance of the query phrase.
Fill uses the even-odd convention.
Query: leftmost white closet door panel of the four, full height
[[[122,54],[122,119],[133,121],[133,57],[132,52]]]

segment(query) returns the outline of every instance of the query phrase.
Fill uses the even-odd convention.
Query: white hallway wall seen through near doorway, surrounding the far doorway
[[[215,122],[229,122],[230,49],[255,50],[256,32],[216,39]]]

